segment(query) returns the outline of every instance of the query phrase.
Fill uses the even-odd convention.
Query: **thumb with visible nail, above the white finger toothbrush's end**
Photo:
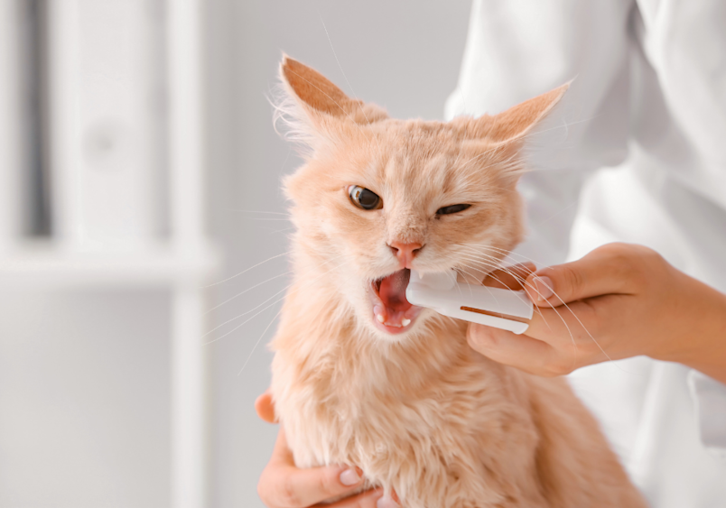
[[[572,263],[548,266],[529,275],[526,291],[541,307],[557,307],[575,300],[624,292],[627,273],[622,258],[599,255],[597,249]]]

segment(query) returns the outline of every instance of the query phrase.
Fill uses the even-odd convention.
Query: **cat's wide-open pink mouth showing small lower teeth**
[[[405,299],[405,288],[411,271],[405,268],[371,283],[373,322],[378,329],[390,334],[402,333],[413,326],[420,307]]]

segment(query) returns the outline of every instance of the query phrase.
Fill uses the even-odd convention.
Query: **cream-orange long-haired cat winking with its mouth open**
[[[563,378],[480,356],[466,323],[405,300],[410,269],[481,280],[521,242],[526,136],[567,85],[442,123],[390,118],[287,56],[280,77],[304,163],[284,180],[271,393],[296,466],[359,466],[406,508],[645,506]]]

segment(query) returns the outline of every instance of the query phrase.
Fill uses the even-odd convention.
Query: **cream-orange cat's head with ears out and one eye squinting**
[[[425,329],[405,300],[410,269],[485,275],[524,234],[517,180],[526,136],[567,85],[498,115],[396,120],[284,57],[278,113],[305,163],[288,177],[296,245],[358,326],[398,340]]]

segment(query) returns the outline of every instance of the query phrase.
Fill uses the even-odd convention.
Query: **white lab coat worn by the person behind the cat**
[[[520,183],[517,252],[545,265],[637,243],[726,292],[726,2],[475,0],[447,116],[571,79]],[[654,507],[726,507],[726,386],[646,357],[571,380]]]

